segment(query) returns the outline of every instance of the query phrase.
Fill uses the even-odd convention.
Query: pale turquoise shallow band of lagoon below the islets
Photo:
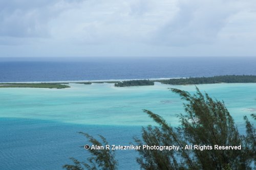
[[[183,112],[180,97],[168,88],[193,92],[194,85],[114,87],[114,84],[70,84],[71,88],[1,88],[1,117],[54,120],[85,125],[144,126],[151,110],[176,125],[175,114]],[[256,84],[198,85],[212,97],[223,100],[234,119],[255,112]]]

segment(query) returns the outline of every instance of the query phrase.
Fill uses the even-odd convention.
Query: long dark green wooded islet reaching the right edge
[[[200,78],[181,78],[169,80],[157,80],[163,84],[187,85],[187,84],[214,84],[214,83],[256,83],[256,76],[248,75],[227,75]]]

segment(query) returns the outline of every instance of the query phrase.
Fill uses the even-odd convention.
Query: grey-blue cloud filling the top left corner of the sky
[[[0,36],[47,37],[48,22],[78,0],[10,0],[0,2]]]

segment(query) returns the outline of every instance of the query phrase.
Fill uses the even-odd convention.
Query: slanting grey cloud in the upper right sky
[[[223,1],[190,1],[153,36],[154,43],[174,46],[212,43],[238,10]]]

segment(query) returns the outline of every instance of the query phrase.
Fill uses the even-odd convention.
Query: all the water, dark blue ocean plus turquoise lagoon
[[[256,75],[256,58],[0,58],[0,82],[156,79]],[[71,88],[0,88],[0,170],[62,169],[69,157],[87,161],[82,131],[103,135],[110,144],[129,145],[141,127],[154,125],[148,109],[178,125],[182,101],[169,87],[191,93],[194,85],[114,87],[110,83],[70,84]],[[256,112],[255,83],[198,87],[225,101],[244,133],[243,115]],[[116,151],[118,168],[139,169],[135,151]]]

